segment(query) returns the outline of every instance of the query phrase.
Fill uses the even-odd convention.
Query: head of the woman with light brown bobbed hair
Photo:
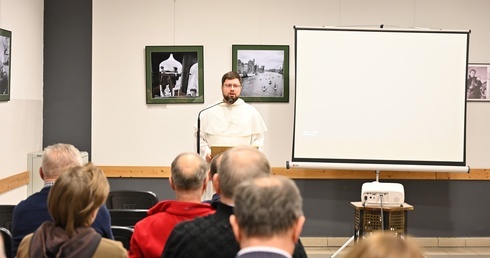
[[[102,170],[88,163],[61,173],[48,195],[48,211],[56,226],[73,236],[75,229],[90,226],[109,195]]]

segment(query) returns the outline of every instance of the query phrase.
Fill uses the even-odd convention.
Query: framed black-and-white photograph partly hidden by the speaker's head
[[[233,71],[247,102],[289,102],[289,46],[233,45]]]

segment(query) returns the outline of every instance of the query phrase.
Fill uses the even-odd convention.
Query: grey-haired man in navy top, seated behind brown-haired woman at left
[[[13,257],[24,236],[34,232],[43,222],[53,220],[48,212],[47,200],[55,181],[69,167],[81,165],[80,151],[71,144],[58,143],[44,149],[41,168],[39,168],[44,187],[17,204],[12,215]],[[111,217],[105,204],[100,207],[92,227],[102,237],[114,238],[111,231]]]

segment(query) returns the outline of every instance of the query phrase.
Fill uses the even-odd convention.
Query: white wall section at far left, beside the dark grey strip
[[[0,0],[0,28],[12,32],[11,94],[0,102],[0,178],[27,170],[27,153],[42,145],[43,1]],[[0,194],[17,204],[27,187]]]

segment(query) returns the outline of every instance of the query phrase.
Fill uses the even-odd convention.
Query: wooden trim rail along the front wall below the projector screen
[[[168,178],[170,167],[99,166],[110,178]],[[294,179],[375,179],[375,171],[272,168],[274,175]],[[471,169],[470,173],[382,171],[380,179],[409,180],[490,180],[490,169]]]

